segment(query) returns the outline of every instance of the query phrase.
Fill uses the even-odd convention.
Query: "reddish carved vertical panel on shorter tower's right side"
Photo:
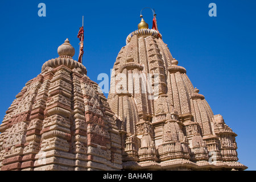
[[[110,169],[111,151],[108,125],[98,97],[98,85],[87,77],[80,80],[85,104],[88,137],[88,170]]]

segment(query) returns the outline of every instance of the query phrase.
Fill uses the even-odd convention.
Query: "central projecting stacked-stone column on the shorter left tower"
[[[71,70],[61,65],[53,70],[49,86],[39,154],[35,170],[73,170],[74,156],[69,154],[71,139]]]

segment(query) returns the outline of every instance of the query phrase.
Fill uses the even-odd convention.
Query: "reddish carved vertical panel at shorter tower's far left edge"
[[[28,82],[23,88],[22,92],[17,96],[21,97],[20,104],[16,105],[13,110],[13,116],[9,119],[5,132],[7,135],[3,138],[3,148],[5,148],[5,154],[2,161],[1,170],[20,170],[26,167],[22,166],[22,161],[26,161],[27,156],[23,156],[24,148],[26,149],[26,135],[35,134],[36,131],[27,131],[30,123],[30,114],[32,105],[35,102],[36,94],[42,84],[42,75],[34,78]],[[5,123],[4,123],[5,124]],[[38,146],[39,143],[34,143]],[[34,146],[34,147],[35,147]],[[25,150],[26,154],[26,150]],[[28,166],[32,166],[33,162],[30,161]]]

